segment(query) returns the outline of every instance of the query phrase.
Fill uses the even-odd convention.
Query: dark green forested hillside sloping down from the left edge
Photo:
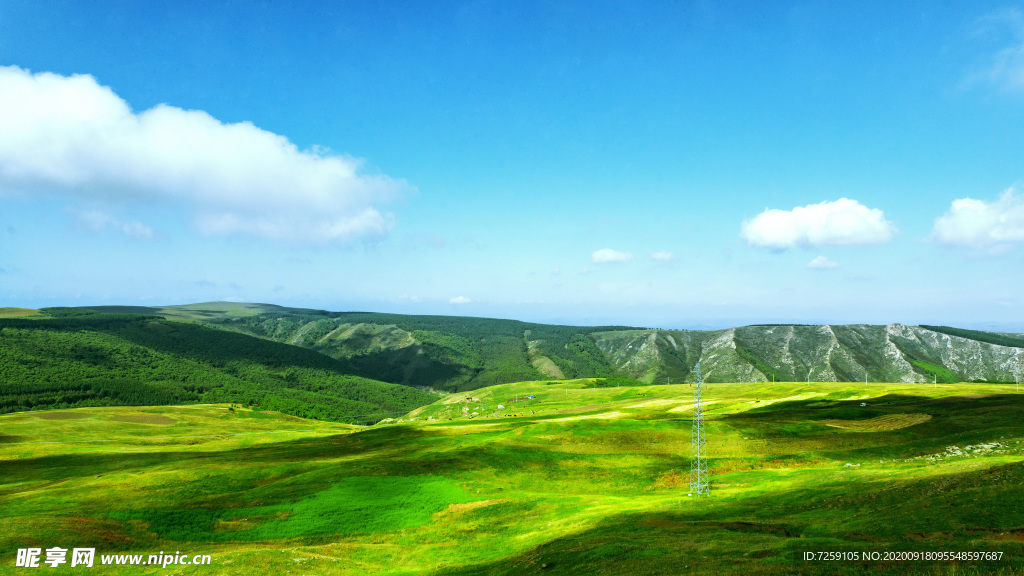
[[[233,402],[376,421],[430,402],[350,374],[314,352],[141,315],[44,308],[0,319],[0,413],[77,406]]]

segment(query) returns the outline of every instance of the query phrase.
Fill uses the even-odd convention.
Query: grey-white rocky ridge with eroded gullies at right
[[[689,377],[697,359],[709,381],[1014,381],[1024,348],[918,326],[744,326],[715,331],[591,335],[617,370],[644,381]],[[678,378],[678,380],[677,380]]]

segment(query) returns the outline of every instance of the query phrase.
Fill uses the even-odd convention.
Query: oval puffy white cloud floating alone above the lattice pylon
[[[765,209],[743,220],[739,236],[751,246],[782,250],[798,246],[882,244],[889,242],[895,232],[896,228],[882,210],[840,198],[793,210]]]

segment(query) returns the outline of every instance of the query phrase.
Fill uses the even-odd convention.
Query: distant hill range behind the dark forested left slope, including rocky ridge
[[[1024,375],[1024,337],[941,326],[645,330],[250,305],[203,322],[321,352],[365,377],[453,392],[609,375],[685,382],[698,360],[706,379],[719,382],[1014,382]]]

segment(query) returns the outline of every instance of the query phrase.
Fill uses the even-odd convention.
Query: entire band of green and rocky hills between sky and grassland
[[[238,302],[3,308],[0,412],[234,402],[371,422],[431,402],[430,389],[682,383],[697,361],[711,382],[1015,382],[1024,337],[900,324],[575,327]]]

